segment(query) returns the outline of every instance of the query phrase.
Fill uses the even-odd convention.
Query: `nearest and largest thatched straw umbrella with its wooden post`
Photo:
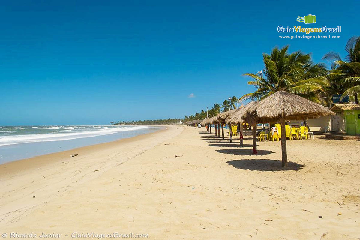
[[[244,118],[257,123],[281,124],[282,165],[287,166],[285,121],[301,120],[334,115],[329,109],[309,101],[301,96],[284,91],[275,92],[267,98],[249,107]]]

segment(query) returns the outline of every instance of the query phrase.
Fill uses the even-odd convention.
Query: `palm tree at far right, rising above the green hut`
[[[345,51],[347,53],[345,61],[341,60],[338,53],[332,51],[325,54],[323,59],[334,60],[329,76],[337,81],[341,80],[341,84],[345,87],[346,90],[341,92],[341,98],[351,96],[357,104],[360,93],[360,37],[351,37],[346,43]]]

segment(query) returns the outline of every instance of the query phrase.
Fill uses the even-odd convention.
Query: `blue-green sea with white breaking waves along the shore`
[[[0,164],[154,132],[161,126],[0,126]]]

